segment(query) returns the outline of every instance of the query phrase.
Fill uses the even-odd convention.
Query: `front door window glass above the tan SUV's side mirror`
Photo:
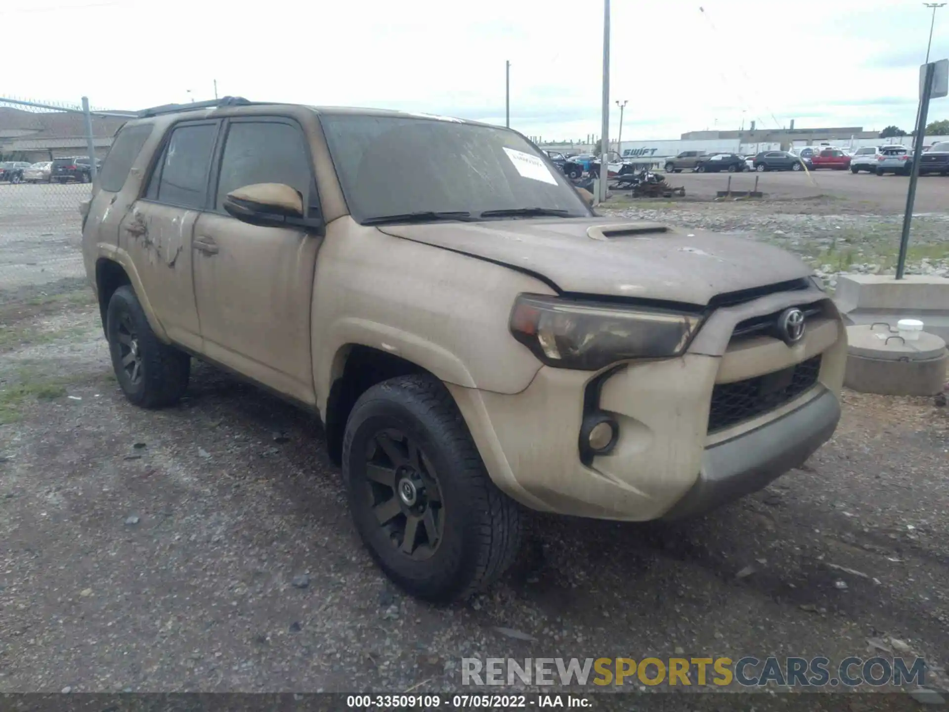
[[[231,191],[254,183],[285,183],[298,190],[307,205],[311,176],[307,145],[296,126],[233,122],[221,157],[215,206],[223,212]]]

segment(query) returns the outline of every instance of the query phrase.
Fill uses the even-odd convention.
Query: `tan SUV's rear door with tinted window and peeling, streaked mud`
[[[152,168],[144,196],[121,221],[119,246],[139,272],[144,298],[169,338],[202,350],[192,277],[195,221],[208,202],[219,121],[179,122]],[[141,295],[140,295],[141,296]]]

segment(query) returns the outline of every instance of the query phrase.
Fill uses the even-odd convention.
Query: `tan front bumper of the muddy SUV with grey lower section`
[[[542,367],[527,389],[505,395],[448,384],[493,481],[537,510],[617,520],[698,514],[763,487],[828,440],[846,331],[827,312],[803,342],[731,342],[739,322],[826,299],[782,292],[718,309],[677,359],[631,363],[605,374]],[[735,384],[819,355],[816,383],[768,412],[709,433],[716,384]],[[601,378],[598,408],[618,423],[608,455],[579,454],[587,386]]]

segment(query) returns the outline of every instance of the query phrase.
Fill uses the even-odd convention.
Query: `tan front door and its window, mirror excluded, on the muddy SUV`
[[[300,192],[311,215],[318,213],[307,141],[289,119],[233,119],[219,157],[214,206],[195,223],[195,297],[204,352],[261,384],[315,403],[309,316],[321,238],[250,225],[223,208],[236,188],[286,183]]]

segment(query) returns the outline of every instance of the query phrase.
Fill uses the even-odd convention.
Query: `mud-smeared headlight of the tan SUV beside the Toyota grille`
[[[537,294],[521,294],[511,312],[514,338],[544,364],[586,371],[678,356],[700,323],[699,314]]]

